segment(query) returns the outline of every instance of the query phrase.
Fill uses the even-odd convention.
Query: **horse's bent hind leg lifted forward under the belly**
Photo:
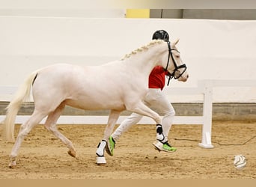
[[[48,129],[50,132],[52,132],[53,135],[55,135],[57,138],[59,138],[69,149],[68,150],[68,154],[70,156],[76,157],[76,151],[73,147],[72,142],[66,138],[63,134],[61,134],[61,132],[58,131],[56,123],[58,118],[61,116],[61,111],[63,111],[63,109],[65,108],[65,104],[62,102],[61,105],[59,105],[55,111],[52,111],[46,120],[46,123],[44,124],[44,126],[46,127],[46,129]]]

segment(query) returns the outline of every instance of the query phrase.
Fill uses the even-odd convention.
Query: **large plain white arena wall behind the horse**
[[[165,29],[199,80],[256,80],[256,21],[0,16],[0,86],[18,86],[31,71],[55,63],[100,65],[123,57]],[[125,82],[125,80],[124,80]],[[4,98],[1,98],[4,99]],[[200,96],[171,96],[198,102]],[[214,88],[213,102],[256,102],[256,88]]]

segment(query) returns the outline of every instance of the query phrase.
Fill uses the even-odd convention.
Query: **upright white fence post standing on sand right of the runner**
[[[213,148],[212,144],[212,116],[213,116],[213,82],[210,80],[202,81],[204,91],[204,108],[203,108],[203,127],[202,141],[200,147]]]

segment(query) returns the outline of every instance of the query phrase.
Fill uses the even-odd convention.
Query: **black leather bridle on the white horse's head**
[[[186,71],[186,64],[181,64],[180,66],[177,66],[176,61],[174,60],[174,56],[172,55],[171,51],[177,51],[177,52],[179,52],[179,51],[177,49],[171,49],[170,41],[167,41],[167,44],[168,44],[169,54],[168,54],[168,61],[167,61],[167,65],[165,67],[165,71],[168,71],[167,68],[168,68],[168,65],[169,65],[170,56],[171,56],[171,60],[174,62],[174,71],[172,73],[168,72],[168,75],[167,75],[169,77],[167,85],[169,85],[169,82],[170,82],[170,80],[172,78],[179,79],[180,76],[182,76],[183,73],[185,73],[185,71]],[[180,73],[180,70],[179,70],[180,68],[184,68],[182,73]]]

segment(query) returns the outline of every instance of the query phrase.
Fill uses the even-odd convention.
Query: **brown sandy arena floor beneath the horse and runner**
[[[116,144],[106,165],[96,165],[95,151],[104,125],[58,125],[73,141],[77,159],[42,125],[25,138],[16,169],[7,167],[13,144],[0,140],[0,179],[255,179],[256,123],[213,122],[213,149],[198,147],[201,126],[174,125],[169,139],[175,153],[154,150],[154,125],[135,125]],[[19,125],[16,125],[16,133]],[[1,139],[1,137],[0,137]],[[234,156],[246,156],[243,170]]]

